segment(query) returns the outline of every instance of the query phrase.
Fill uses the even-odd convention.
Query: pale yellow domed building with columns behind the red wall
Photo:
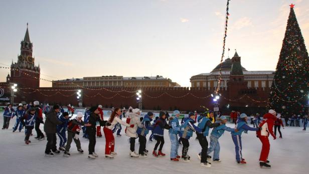
[[[210,73],[202,73],[190,78],[191,87],[207,88],[208,90],[217,88],[220,64]],[[237,52],[232,59],[227,58],[222,63],[222,80],[220,86],[227,89],[232,73],[243,75],[244,82],[248,88],[270,88],[274,78],[274,71],[247,71],[241,66],[240,56]],[[237,78],[237,76],[235,76]],[[237,79],[235,79],[237,80]],[[238,79],[239,80],[239,79]]]

